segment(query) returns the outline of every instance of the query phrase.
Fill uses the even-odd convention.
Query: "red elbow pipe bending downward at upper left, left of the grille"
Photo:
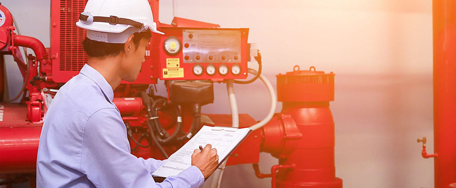
[[[15,35],[13,37],[14,45],[21,46],[21,47],[28,47],[35,52],[36,58],[40,61],[41,64],[47,64],[47,52],[46,48],[44,47],[43,43],[33,37],[27,37],[23,35]]]

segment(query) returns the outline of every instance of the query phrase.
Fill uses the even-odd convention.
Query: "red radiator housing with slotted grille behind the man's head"
[[[87,0],[51,0],[51,54],[52,79],[57,83],[65,83],[76,76],[88,60],[81,42],[86,37],[86,31],[76,26],[78,16],[84,11]],[[149,0],[158,25],[158,0]],[[152,34],[146,51],[146,62],[143,63],[138,78],[128,84],[155,84],[157,76],[151,70],[158,52],[158,34]],[[145,69],[148,68],[148,69]],[[127,82],[122,82],[127,84]]]

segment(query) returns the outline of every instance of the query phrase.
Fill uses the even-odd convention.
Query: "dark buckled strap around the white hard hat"
[[[138,29],[141,29],[141,30],[144,30],[144,24],[143,23],[140,23],[140,22],[137,22],[137,21],[133,21],[133,20],[130,20],[130,19],[126,19],[126,18],[119,18],[117,16],[109,16],[109,17],[104,17],[104,16],[92,16],[86,12],[82,12],[80,15],[79,15],[79,20],[85,24],[91,24],[92,22],[105,22],[105,23],[109,23],[109,24],[112,24],[112,25],[116,25],[116,24],[124,24],[124,25],[130,25],[130,26],[134,26],[135,28],[138,28]]]

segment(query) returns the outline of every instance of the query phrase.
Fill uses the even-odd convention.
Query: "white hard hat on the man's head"
[[[165,34],[157,31],[147,0],[88,0],[76,25],[87,29],[89,39],[108,43],[125,43],[147,29]]]

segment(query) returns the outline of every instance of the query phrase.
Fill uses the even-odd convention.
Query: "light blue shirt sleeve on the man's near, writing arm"
[[[115,109],[102,109],[91,115],[82,142],[79,170],[96,187],[200,188],[204,182],[201,171],[191,166],[155,183],[150,171],[157,167],[157,160],[130,154],[126,128]]]

